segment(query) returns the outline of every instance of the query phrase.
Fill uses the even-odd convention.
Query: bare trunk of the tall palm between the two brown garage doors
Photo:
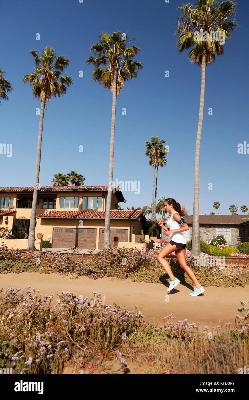
[[[112,176],[113,176],[113,158],[114,158],[114,131],[116,118],[116,98],[117,98],[117,66],[114,66],[114,79],[112,84],[112,126],[111,126],[111,141],[110,141],[110,158],[109,158],[109,181],[106,201],[106,218],[104,232],[104,250],[111,247],[110,242],[110,216],[111,216],[111,201],[112,201]]]

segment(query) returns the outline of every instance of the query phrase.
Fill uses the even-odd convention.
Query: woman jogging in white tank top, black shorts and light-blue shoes
[[[181,232],[184,232],[185,230],[189,230],[189,227],[185,223],[184,219],[182,222],[180,220],[180,218],[182,216],[181,206],[173,198],[168,198],[164,202],[164,208],[166,209],[167,212],[170,213],[170,216],[167,220],[168,228],[163,226],[162,220],[158,221],[158,225],[161,226],[161,228],[163,228],[166,231],[167,236],[170,235],[171,240],[159,252],[159,254],[157,256],[157,260],[159,261],[161,266],[165,269],[165,271],[169,275],[169,278],[171,279],[169,281],[169,288],[167,289],[167,292],[169,293],[172,289],[175,288],[175,286],[177,286],[180,283],[179,279],[175,278],[175,276],[169,266],[169,263],[164,259],[168,254],[170,254],[174,251],[175,255],[177,257],[177,260],[179,261],[180,267],[186,272],[186,274],[189,276],[189,278],[195,284],[193,293],[189,293],[190,296],[198,296],[199,294],[205,292],[205,290],[199,284],[199,282],[197,281],[197,279],[195,277],[195,274],[193,273],[191,268],[189,268],[189,266],[186,263],[184,248],[186,246],[187,241]]]

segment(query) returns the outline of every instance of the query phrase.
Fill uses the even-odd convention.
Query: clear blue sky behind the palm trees
[[[0,143],[12,143],[12,157],[0,154],[0,186],[34,186],[40,102],[22,83],[34,70],[34,58],[45,46],[71,61],[66,75],[73,85],[52,98],[44,114],[40,185],[50,186],[53,174],[75,170],[84,186],[108,184],[112,94],[92,80],[92,42],[102,31],[117,29],[136,38],[134,60],[143,64],[136,80],[125,83],[117,97],[113,180],[140,182],[140,193],[124,190],[121,208],[151,205],[153,168],[145,141],[159,136],[169,146],[167,164],[158,171],[157,200],[173,197],[193,213],[195,144],[199,115],[201,69],[177,51],[177,18],[181,0],[45,0],[3,2],[1,63],[14,91],[0,107]],[[238,154],[248,134],[249,3],[239,0],[239,24],[224,45],[223,57],[206,68],[204,118],[200,150],[200,214],[230,214],[231,204],[249,208],[249,154]],[[40,33],[40,40],[36,40]],[[83,78],[79,71],[83,70]],[[169,78],[165,71],[169,70]],[[126,115],[122,109],[126,108]],[[209,108],[213,115],[208,115]],[[83,146],[83,152],[79,152]],[[248,146],[249,147],[249,146]],[[213,189],[209,190],[209,183]]]

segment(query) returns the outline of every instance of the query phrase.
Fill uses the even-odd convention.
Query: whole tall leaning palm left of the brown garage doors
[[[38,57],[36,50],[30,50],[30,53],[34,57],[36,64],[36,67],[34,68],[35,71],[32,72],[32,74],[25,75],[22,82],[29,83],[32,86],[34,98],[39,99],[41,102],[36,173],[28,235],[28,248],[33,248],[35,238],[36,203],[40,176],[44,108],[47,108],[46,103],[50,102],[52,97],[60,97],[62,94],[67,92],[66,85],[69,87],[72,84],[72,79],[70,76],[62,75],[64,69],[69,66],[70,61],[64,56],[56,57],[56,54],[51,47],[47,46],[44,48],[40,57]]]

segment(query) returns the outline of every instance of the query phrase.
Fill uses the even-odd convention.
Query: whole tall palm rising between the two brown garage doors
[[[141,50],[134,44],[130,47],[131,40],[128,36],[122,35],[118,30],[113,34],[102,32],[100,41],[94,43],[91,51],[95,57],[90,56],[87,64],[93,64],[95,69],[92,72],[92,79],[103,85],[106,90],[112,92],[112,124],[110,140],[109,157],[109,180],[108,194],[106,201],[106,218],[104,232],[104,250],[111,247],[110,243],[110,214],[112,201],[112,178],[113,178],[113,159],[114,159],[114,132],[116,120],[116,98],[124,87],[124,82],[129,79],[137,78],[139,68],[143,66],[139,61],[133,61],[132,58]]]

